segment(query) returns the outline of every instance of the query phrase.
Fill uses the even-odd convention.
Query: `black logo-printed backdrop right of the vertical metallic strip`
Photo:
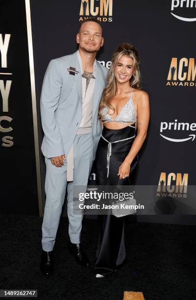
[[[82,1],[30,1],[38,109],[49,60],[77,49],[75,36],[79,20],[85,17],[79,15]],[[98,54],[99,61],[106,65],[124,41],[135,44],[140,54],[142,89],[149,94],[151,117],[147,140],[139,153],[135,183],[158,185],[162,173],[165,173],[166,181],[169,174],[174,173],[181,174],[182,178],[188,174],[188,184],[194,185],[196,22],[179,17],[196,18],[195,1],[83,2],[92,8],[91,12],[98,7],[97,17],[101,18],[105,44]],[[104,13],[101,15],[101,3],[112,5],[110,16],[109,8],[105,16]],[[89,16],[87,9],[86,17]],[[39,111],[38,119],[41,143],[43,132]],[[43,157],[41,169],[44,183]]]

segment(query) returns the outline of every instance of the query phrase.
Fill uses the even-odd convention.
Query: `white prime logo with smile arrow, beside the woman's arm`
[[[177,119],[174,122],[161,122],[160,136],[171,142],[187,142],[194,141],[196,138],[196,123],[184,123],[178,122]],[[193,132],[193,133],[191,133]],[[191,133],[191,134],[190,134]],[[183,137],[182,137],[183,136]]]

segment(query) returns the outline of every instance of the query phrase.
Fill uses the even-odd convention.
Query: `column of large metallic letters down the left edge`
[[[10,132],[13,128],[9,125],[12,121],[12,118],[9,116],[4,116],[4,113],[8,113],[8,100],[11,89],[12,80],[8,80],[7,78],[12,75],[12,73],[7,72],[7,51],[9,48],[11,34],[5,34],[4,39],[2,34],[0,33],[0,98],[2,99],[2,113],[3,116],[0,116],[0,133],[3,134]],[[1,112],[1,109],[0,109]],[[2,137],[2,143],[0,146],[2,147],[12,147],[13,146],[13,137],[5,135]]]

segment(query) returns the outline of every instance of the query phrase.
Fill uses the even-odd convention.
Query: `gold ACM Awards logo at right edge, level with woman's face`
[[[172,57],[168,73],[167,83],[169,86],[196,86],[196,63],[195,58]]]

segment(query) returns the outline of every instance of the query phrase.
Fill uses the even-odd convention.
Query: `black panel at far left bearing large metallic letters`
[[[3,43],[10,34],[7,67],[0,55],[0,73],[12,74],[0,74],[1,89],[2,83],[12,81],[8,109],[0,93],[0,125],[12,128],[0,128],[0,212],[39,215],[25,0],[1,1],[0,34]],[[13,145],[3,143],[5,136]]]

